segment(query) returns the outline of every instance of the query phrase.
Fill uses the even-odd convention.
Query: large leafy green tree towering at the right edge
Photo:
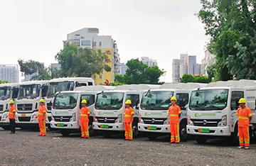
[[[201,0],[198,17],[210,36],[215,80],[256,79],[256,1]]]

